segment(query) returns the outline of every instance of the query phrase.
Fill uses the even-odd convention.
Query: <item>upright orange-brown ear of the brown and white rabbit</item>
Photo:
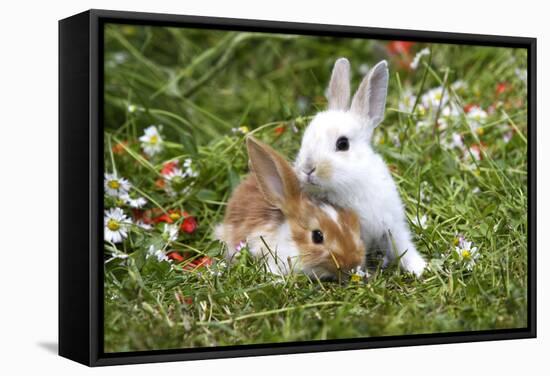
[[[246,147],[252,171],[264,198],[285,215],[296,211],[300,183],[290,164],[271,147],[252,136],[246,138]]]

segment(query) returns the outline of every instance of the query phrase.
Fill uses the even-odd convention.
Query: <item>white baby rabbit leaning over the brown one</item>
[[[336,61],[327,91],[328,110],[308,125],[295,163],[303,188],[360,217],[367,252],[381,250],[384,265],[400,257],[420,276],[426,262],[411,241],[403,203],[390,171],[371,146],[384,118],[388,66],[381,61],[361,82],[351,106],[349,61]]]

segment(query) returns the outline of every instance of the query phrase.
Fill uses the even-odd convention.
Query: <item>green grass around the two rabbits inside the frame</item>
[[[392,47],[366,39],[107,26],[105,170],[130,180],[133,193],[147,199],[146,213],[186,211],[198,227],[167,245],[162,224],[128,224],[123,242],[105,242],[106,352],[527,325],[526,52]],[[425,47],[430,55],[416,70],[407,68]],[[429,270],[416,279],[389,267],[367,282],[338,284],[271,275],[246,251],[224,265],[213,227],[247,172],[244,135],[232,129],[246,126],[292,159],[310,117],[325,108],[339,56],[352,63],[353,87],[362,64],[389,59],[386,118],[375,146],[392,169]],[[424,106],[422,96],[437,87],[443,100],[435,95],[433,106]],[[455,113],[445,112],[446,101]],[[487,116],[473,118],[472,105]],[[138,139],[152,124],[162,125],[163,149],[147,157]],[[464,146],[450,145],[453,135]],[[186,158],[198,176],[171,196],[159,187],[161,169]],[[106,195],[105,208],[115,206],[136,215]],[[457,234],[479,249],[472,270],[454,252]],[[147,256],[150,246],[177,250],[186,260],[158,261]],[[194,267],[203,256],[213,264]]]

